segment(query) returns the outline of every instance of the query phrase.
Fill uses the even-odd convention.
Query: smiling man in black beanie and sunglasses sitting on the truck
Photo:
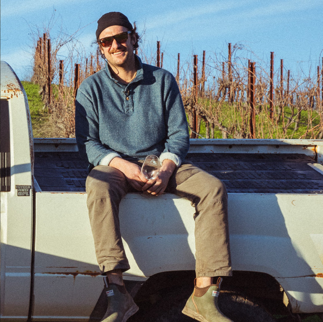
[[[125,15],[103,15],[96,37],[107,65],[78,89],[76,138],[80,154],[94,167],[86,190],[96,255],[106,276],[108,309],[102,321],[124,322],[138,310],[122,279],[130,266],[120,235],[120,200],[128,192],[158,196],[165,191],[196,208],[196,284],[183,313],[199,321],[228,322],[217,306],[221,279],[212,284],[213,277],[232,274],[227,194],[220,180],[184,162],[188,126],[175,78],[134,54],[139,36]],[[161,161],[154,180],[141,174],[149,154]]]

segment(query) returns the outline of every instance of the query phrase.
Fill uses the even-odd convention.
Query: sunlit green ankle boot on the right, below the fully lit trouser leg
[[[233,322],[225,317],[218,307],[218,296],[222,278],[217,284],[204,288],[194,287],[182,313],[200,322]]]

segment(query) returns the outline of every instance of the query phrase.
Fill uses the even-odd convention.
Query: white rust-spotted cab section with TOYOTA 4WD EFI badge
[[[1,316],[27,317],[29,311],[33,141],[28,117],[20,81],[9,65],[1,64]],[[19,291],[17,276],[21,276]]]

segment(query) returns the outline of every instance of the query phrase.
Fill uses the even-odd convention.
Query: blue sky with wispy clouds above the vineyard
[[[95,51],[98,18],[109,11],[121,11],[138,32],[144,32],[142,46],[156,50],[161,41],[164,67],[175,71],[177,53],[190,61],[193,54],[227,55],[227,44],[242,44],[245,58],[270,61],[275,53],[275,70],[280,59],[284,68],[316,72],[322,64],[323,0],[1,0],[1,60],[9,63],[23,79],[31,73],[32,34],[42,32],[55,12],[52,37],[62,28],[68,34],[78,29],[78,40],[89,54]],[[252,53],[253,54],[252,54]]]

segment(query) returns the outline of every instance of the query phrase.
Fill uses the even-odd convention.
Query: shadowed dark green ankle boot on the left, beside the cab
[[[126,322],[139,307],[135,304],[126,288],[110,284],[105,288],[108,297],[108,308],[100,322]]]

